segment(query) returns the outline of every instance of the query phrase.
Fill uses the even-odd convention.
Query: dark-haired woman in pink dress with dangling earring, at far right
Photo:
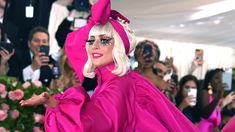
[[[222,69],[212,69],[206,73],[203,88],[199,91],[198,107],[201,120],[201,132],[219,131],[221,122],[221,104],[224,94],[222,83]]]

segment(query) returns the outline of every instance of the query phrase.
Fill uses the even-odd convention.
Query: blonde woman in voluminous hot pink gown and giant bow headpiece
[[[110,0],[99,0],[88,24],[68,35],[65,50],[79,80],[96,76],[98,86],[91,97],[76,86],[21,101],[22,106],[47,105],[46,131],[197,131],[152,83],[129,70],[127,54],[136,40],[127,23],[110,10]]]

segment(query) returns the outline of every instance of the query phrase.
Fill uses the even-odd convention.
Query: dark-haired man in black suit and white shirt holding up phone
[[[44,85],[49,86],[52,79],[52,68],[55,60],[49,56],[49,33],[43,27],[35,27],[29,33],[28,60],[23,68],[23,80],[40,80]],[[27,58],[27,59],[26,59]]]

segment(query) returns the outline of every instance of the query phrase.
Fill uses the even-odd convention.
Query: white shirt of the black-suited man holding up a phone
[[[33,59],[33,54],[32,52],[30,52],[30,58],[31,60]],[[35,71],[33,71],[31,65],[28,65],[27,67],[25,67],[23,69],[23,79],[24,81],[35,81],[35,80],[39,80],[40,78],[40,69],[36,69]]]

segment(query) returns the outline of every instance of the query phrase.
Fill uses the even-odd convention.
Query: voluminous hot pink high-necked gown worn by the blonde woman
[[[90,98],[82,87],[57,94],[47,108],[47,132],[194,132],[197,128],[149,81],[131,71],[119,77],[109,64],[96,70]]]

